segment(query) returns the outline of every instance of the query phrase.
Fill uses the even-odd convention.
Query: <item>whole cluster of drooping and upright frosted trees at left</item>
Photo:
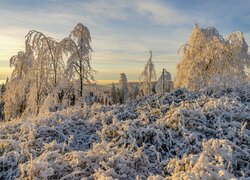
[[[3,97],[5,120],[55,112],[84,101],[83,84],[94,81],[88,28],[77,24],[60,43],[36,30],[25,38],[25,52],[10,59],[14,70]]]

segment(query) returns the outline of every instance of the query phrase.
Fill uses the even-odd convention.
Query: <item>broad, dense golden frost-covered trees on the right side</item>
[[[224,39],[214,27],[195,25],[177,65],[174,86],[198,90],[204,87],[236,87],[246,80],[248,46],[241,32]]]

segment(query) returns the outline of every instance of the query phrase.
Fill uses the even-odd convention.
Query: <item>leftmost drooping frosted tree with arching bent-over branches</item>
[[[26,51],[10,59],[14,70],[4,95],[6,120],[37,114],[59,77],[63,77],[57,44],[52,38],[32,30],[26,36]]]

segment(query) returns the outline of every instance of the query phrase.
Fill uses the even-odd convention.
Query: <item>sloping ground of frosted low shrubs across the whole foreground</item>
[[[250,178],[250,88],[72,107],[0,124],[0,179]]]

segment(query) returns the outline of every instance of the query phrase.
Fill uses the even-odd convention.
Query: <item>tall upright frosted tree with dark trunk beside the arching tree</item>
[[[66,74],[69,79],[76,79],[79,82],[79,93],[83,97],[84,83],[90,84],[94,81],[94,70],[91,67],[90,53],[91,36],[88,28],[78,23],[69,37],[60,42],[59,51],[67,56]]]

